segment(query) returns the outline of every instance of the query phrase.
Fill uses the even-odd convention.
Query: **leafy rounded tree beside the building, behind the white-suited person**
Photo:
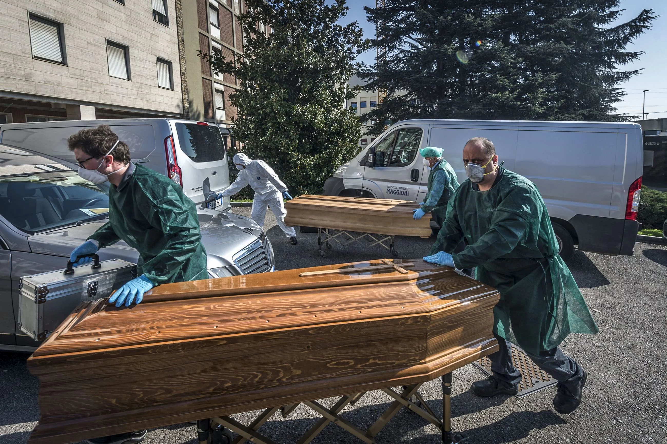
[[[238,109],[232,136],[249,158],[265,160],[293,196],[320,194],[324,181],[358,152],[360,122],[344,108],[346,84],[362,51],[357,23],[338,25],[344,0],[246,0],[241,60],[211,56],[213,70],[234,75]],[[258,33],[257,23],[273,32]]]

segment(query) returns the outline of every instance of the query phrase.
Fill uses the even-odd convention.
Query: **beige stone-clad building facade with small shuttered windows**
[[[0,0],[0,124],[181,117],[180,0]]]

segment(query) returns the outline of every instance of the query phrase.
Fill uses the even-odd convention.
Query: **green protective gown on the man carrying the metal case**
[[[120,190],[109,188],[109,222],[89,239],[103,248],[124,240],[139,251],[139,270],[155,285],[206,279],[197,209],[173,180],[144,166]]]

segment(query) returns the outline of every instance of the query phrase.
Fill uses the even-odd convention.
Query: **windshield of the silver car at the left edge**
[[[34,234],[105,218],[109,196],[73,171],[0,176],[0,215]]]

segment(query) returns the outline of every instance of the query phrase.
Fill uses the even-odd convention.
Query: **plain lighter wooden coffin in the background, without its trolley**
[[[304,194],[285,202],[285,224],[393,236],[431,236],[431,214],[412,217],[417,202]]]

